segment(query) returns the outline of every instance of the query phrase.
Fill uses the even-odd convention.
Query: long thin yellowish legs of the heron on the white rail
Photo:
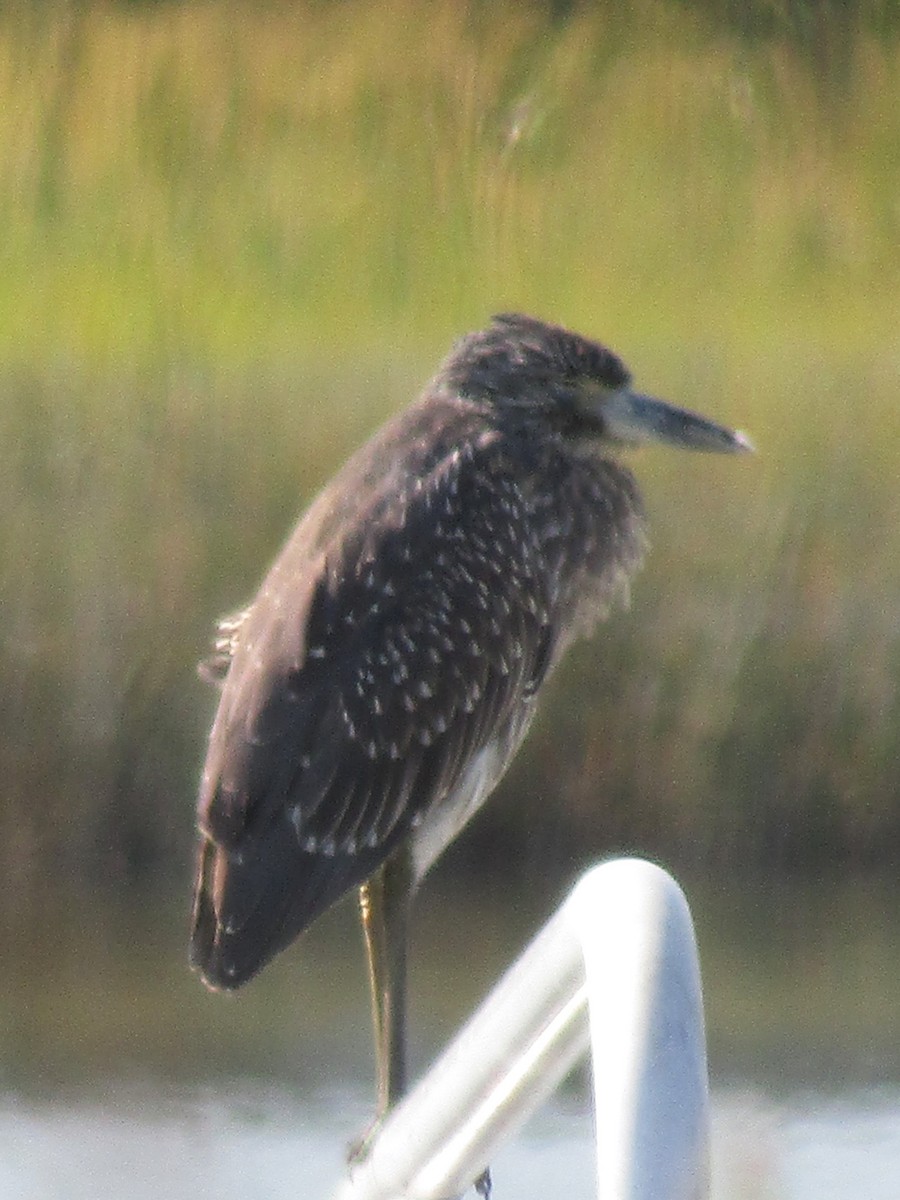
[[[407,1088],[407,937],[412,895],[412,863],[404,850],[389,858],[359,893],[378,1080],[373,1128]]]

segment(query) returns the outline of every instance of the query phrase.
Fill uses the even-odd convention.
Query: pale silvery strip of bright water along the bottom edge
[[[0,1100],[0,1195],[10,1200],[296,1200],[331,1194],[366,1121],[361,1087],[300,1097],[113,1081],[103,1093]],[[593,1200],[590,1117],[552,1100],[492,1164],[498,1200]],[[715,1200],[895,1200],[900,1090],[713,1091]]]

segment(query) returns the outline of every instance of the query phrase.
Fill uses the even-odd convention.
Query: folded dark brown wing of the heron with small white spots
[[[238,631],[199,808],[214,985],[364,882],[499,738],[498,775],[551,661],[552,580],[496,438],[402,478],[325,546],[307,515]]]

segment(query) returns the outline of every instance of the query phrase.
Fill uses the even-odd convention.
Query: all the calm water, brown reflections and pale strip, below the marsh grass
[[[552,906],[448,889],[450,875],[425,889],[415,924],[416,1072]],[[893,1200],[896,886],[685,890],[704,974],[715,1200]],[[138,900],[85,936],[70,898],[46,912],[40,941],[4,947],[0,1200],[330,1195],[371,1116],[354,906],[226,997],[186,967],[182,907]],[[588,1200],[592,1154],[580,1075],[496,1156],[498,1200]]]

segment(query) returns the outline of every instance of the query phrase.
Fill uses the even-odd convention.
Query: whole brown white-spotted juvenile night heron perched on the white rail
[[[220,630],[191,956],[245,983],[360,889],[379,1115],[406,1087],[412,894],[503,775],[566,647],[644,547],[644,440],[748,450],[530,317],[463,337]]]

